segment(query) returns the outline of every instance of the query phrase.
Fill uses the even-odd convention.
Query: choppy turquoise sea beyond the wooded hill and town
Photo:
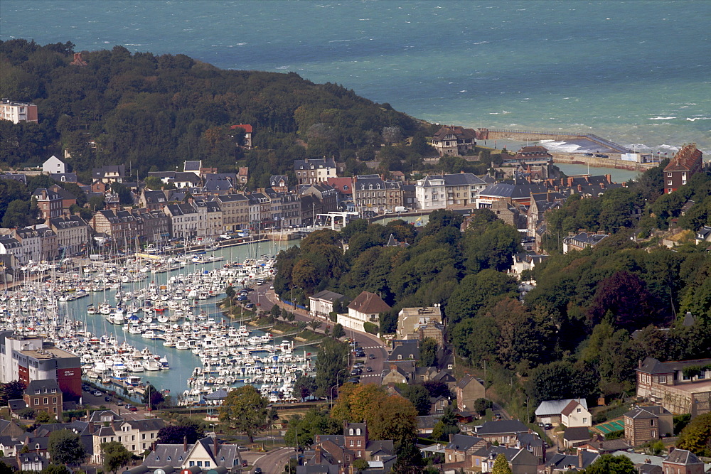
[[[432,122],[711,149],[709,1],[27,1],[0,36],[295,71]]]

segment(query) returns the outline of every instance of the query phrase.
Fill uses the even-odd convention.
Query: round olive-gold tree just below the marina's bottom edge
[[[232,390],[220,406],[220,421],[231,428],[245,433],[254,442],[257,431],[269,424],[267,417],[267,399],[252,385],[243,385]]]

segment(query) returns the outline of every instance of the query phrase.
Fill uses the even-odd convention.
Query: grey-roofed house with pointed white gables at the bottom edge
[[[183,474],[199,474],[205,469],[204,472],[240,473],[242,458],[236,444],[207,437],[193,444],[156,444],[143,465],[151,472],[161,469],[166,473],[180,470]]]

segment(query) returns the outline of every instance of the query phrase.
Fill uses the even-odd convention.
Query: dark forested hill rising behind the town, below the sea
[[[143,177],[196,159],[228,172],[245,158],[230,126],[250,124],[257,149],[247,165],[252,184],[264,185],[296,158],[369,159],[375,146],[419,127],[388,104],[293,72],[220,70],[122,46],[84,52],[87,65],[70,65],[73,53],[70,42],[0,41],[1,97],[33,102],[39,113],[38,124],[0,122],[4,166],[41,163],[65,147],[80,178],[102,164],[126,163]]]

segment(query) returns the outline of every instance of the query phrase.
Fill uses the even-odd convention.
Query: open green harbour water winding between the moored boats
[[[166,284],[170,276],[176,276],[178,273],[188,273],[194,272],[196,270],[209,270],[213,268],[220,268],[225,264],[226,260],[232,262],[243,262],[247,258],[260,257],[262,254],[274,255],[279,253],[279,250],[284,250],[287,247],[292,247],[292,245],[297,245],[301,242],[300,240],[292,240],[290,242],[262,242],[257,247],[257,244],[243,245],[239,247],[228,247],[225,249],[220,249],[216,252],[210,252],[210,254],[215,254],[218,256],[225,257],[222,262],[213,262],[211,264],[205,265],[187,265],[180,271],[171,271],[170,273],[163,274],[152,274],[149,280],[146,280],[146,284],[153,279],[156,284]],[[136,284],[137,288],[139,284]],[[124,291],[132,291],[132,284],[124,284]],[[115,291],[107,291],[109,296],[109,301],[114,303],[113,295]],[[214,296],[207,300],[198,300],[199,309],[198,311],[205,311],[208,317],[215,318],[215,321],[220,321],[222,318],[222,313],[218,311],[217,303],[224,298],[224,294]],[[124,340],[134,348],[141,350],[143,348],[149,348],[151,352],[158,355],[165,355],[171,366],[171,370],[161,370],[157,372],[139,372],[137,375],[146,382],[151,382],[157,389],[170,389],[171,394],[178,396],[183,393],[184,390],[188,389],[187,380],[191,377],[193,369],[201,364],[198,356],[194,355],[190,350],[176,350],[175,348],[166,348],[163,345],[163,340],[150,340],[141,338],[139,334],[130,334],[127,331],[124,332],[119,325],[112,325],[106,322],[104,316],[100,314],[87,315],[86,308],[89,304],[95,303],[98,305],[100,301],[104,301],[104,293],[90,293],[86,298],[80,298],[74,301],[69,301],[68,303],[59,303],[59,311],[61,315],[70,316],[74,319],[80,319],[85,321],[87,328],[95,335],[114,335],[119,343]],[[232,322],[234,325],[240,325],[239,321]],[[261,335],[260,331],[253,331],[253,335]],[[281,342],[281,338],[275,338],[274,343],[278,344]]]

